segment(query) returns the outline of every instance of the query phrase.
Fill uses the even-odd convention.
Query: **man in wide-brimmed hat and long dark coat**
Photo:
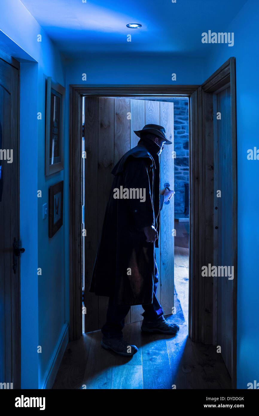
[[[142,305],[144,332],[175,334],[157,297],[159,212],[174,191],[160,192],[159,154],[171,144],[163,126],[146,124],[135,131],[140,141],[112,170],[114,175],[106,207],[101,241],[94,264],[90,292],[109,296],[102,347],[120,355],[138,351],[123,339],[124,318],[131,305]]]

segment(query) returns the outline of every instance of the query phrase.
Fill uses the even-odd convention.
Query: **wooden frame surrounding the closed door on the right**
[[[201,267],[214,264],[214,119],[213,94],[230,85],[232,124],[232,183],[233,183],[233,228],[232,265],[233,281],[233,349],[232,388],[237,384],[237,127],[236,127],[236,81],[235,58],[229,58],[192,94],[191,149],[190,158],[190,291],[189,291],[189,335],[192,341],[216,345],[216,314],[213,278],[205,280]],[[202,198],[200,198],[203,196]],[[200,205],[199,205],[200,204]],[[200,209],[199,209],[200,206]],[[197,217],[195,218],[195,215]],[[216,241],[215,241],[216,243]],[[191,250],[192,247],[192,250]],[[198,250],[195,253],[196,248]],[[194,249],[194,250],[193,250]],[[198,254],[198,255],[197,255]]]

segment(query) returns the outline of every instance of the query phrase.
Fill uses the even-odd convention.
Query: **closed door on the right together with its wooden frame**
[[[234,389],[237,377],[235,88],[232,57],[191,96],[189,291],[190,337],[195,342],[221,347]],[[202,266],[209,264],[217,269],[234,267],[234,278],[203,277]]]

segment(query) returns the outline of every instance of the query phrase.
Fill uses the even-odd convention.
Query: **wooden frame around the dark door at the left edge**
[[[18,235],[16,236],[20,240],[20,62],[11,57],[5,51],[0,49],[0,58],[12,65],[18,70],[18,91],[17,91],[17,181],[18,181]],[[21,296],[20,296],[20,258],[17,258],[17,270],[15,275],[15,281],[11,283],[11,297],[12,297],[12,324],[11,332],[15,334],[15,339],[12,339],[11,343],[11,357],[12,357],[12,380],[13,388],[20,389],[21,387]],[[16,319],[18,317],[18,324]],[[7,381],[8,382],[8,381]]]

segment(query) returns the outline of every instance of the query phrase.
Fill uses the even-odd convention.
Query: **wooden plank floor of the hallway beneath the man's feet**
[[[167,317],[180,331],[175,336],[142,334],[141,322],[126,324],[124,338],[137,345],[133,357],[120,357],[100,346],[101,331],[69,342],[53,389],[227,389],[231,380],[216,347],[187,337],[175,292],[176,314]]]

